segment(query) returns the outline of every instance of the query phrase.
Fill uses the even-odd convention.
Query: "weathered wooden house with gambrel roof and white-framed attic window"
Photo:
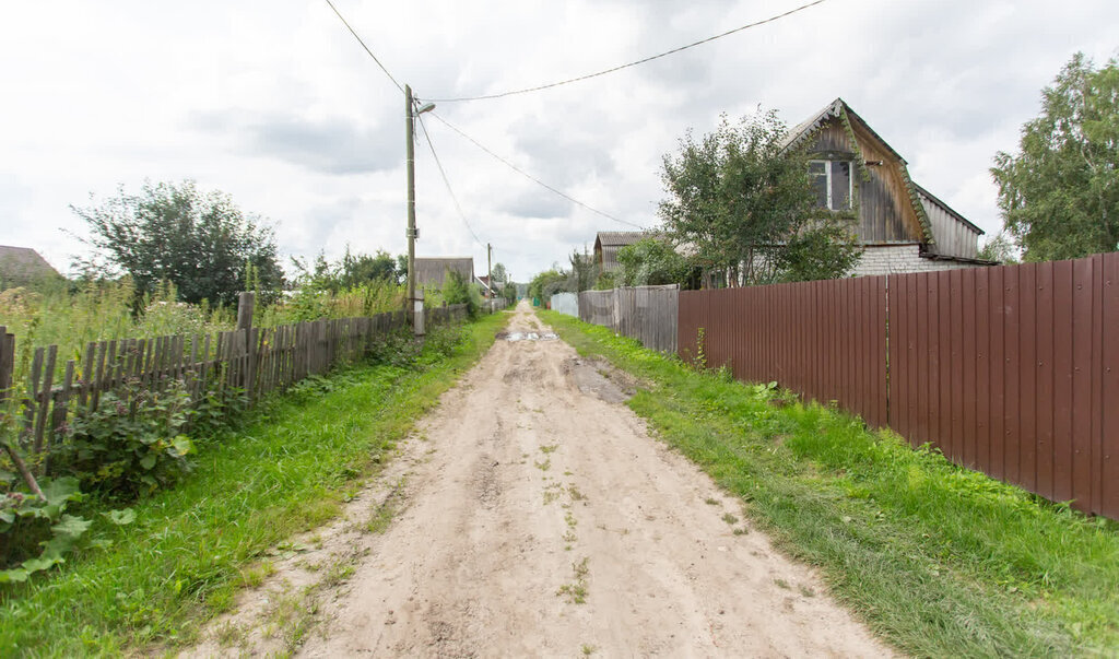
[[[821,208],[857,220],[865,251],[850,274],[993,265],[978,258],[984,230],[914,183],[905,159],[843,98],[794,126],[782,147],[807,150]]]

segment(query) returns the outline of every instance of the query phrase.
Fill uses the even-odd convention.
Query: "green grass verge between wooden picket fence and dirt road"
[[[0,590],[0,656],[191,641],[252,582],[244,574],[269,548],[339,512],[352,481],[379,469],[507,320],[466,326],[450,355],[445,342],[425,349],[436,354],[420,357],[421,370],[359,366],[257,409],[242,430],[204,445],[185,482],[138,503],[133,525],[98,529],[113,540],[109,549]]]

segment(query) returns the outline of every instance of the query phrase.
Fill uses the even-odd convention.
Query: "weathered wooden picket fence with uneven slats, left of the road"
[[[251,309],[251,300],[248,304]],[[425,316],[429,324],[459,321],[467,317],[467,305],[430,309]],[[238,317],[251,319],[252,312]],[[395,311],[274,328],[243,327],[217,335],[112,339],[88,343],[79,359],[67,360],[60,369],[58,346],[46,346],[35,349],[26,390],[19,392],[22,383],[12,383],[16,337],[0,326],[0,413],[10,409],[12,402],[19,404],[20,448],[29,463],[41,470],[51,448],[64,441],[67,420],[96,409],[105,393],[128,403],[140,392],[162,392],[181,384],[191,405],[215,394],[243,395],[251,404],[264,394],[359,359],[405,327],[404,311]],[[56,380],[58,373],[60,380]]]

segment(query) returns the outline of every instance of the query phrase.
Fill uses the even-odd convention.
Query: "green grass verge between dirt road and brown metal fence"
[[[913,450],[789,394],[696,373],[604,328],[540,312],[645,385],[629,402],[744,502],[833,594],[915,656],[1119,652],[1119,525]]]

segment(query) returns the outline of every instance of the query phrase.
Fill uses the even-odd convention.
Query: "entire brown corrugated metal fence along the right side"
[[[685,291],[678,328],[685,359],[1119,519],[1119,254]]]

